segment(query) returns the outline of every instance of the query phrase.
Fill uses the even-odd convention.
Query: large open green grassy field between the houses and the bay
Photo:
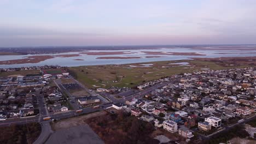
[[[170,63],[187,62],[189,65],[173,65]],[[141,64],[153,64],[152,67],[142,67]],[[132,65],[132,67],[130,67]],[[193,71],[202,71],[203,69],[230,69],[249,67],[249,65],[240,66],[222,66],[217,62],[210,61],[161,61],[136,64],[121,65],[94,65],[71,67],[70,70],[77,74],[77,80],[90,88],[97,87],[133,87],[141,83],[160,79],[180,73],[191,73]]]

